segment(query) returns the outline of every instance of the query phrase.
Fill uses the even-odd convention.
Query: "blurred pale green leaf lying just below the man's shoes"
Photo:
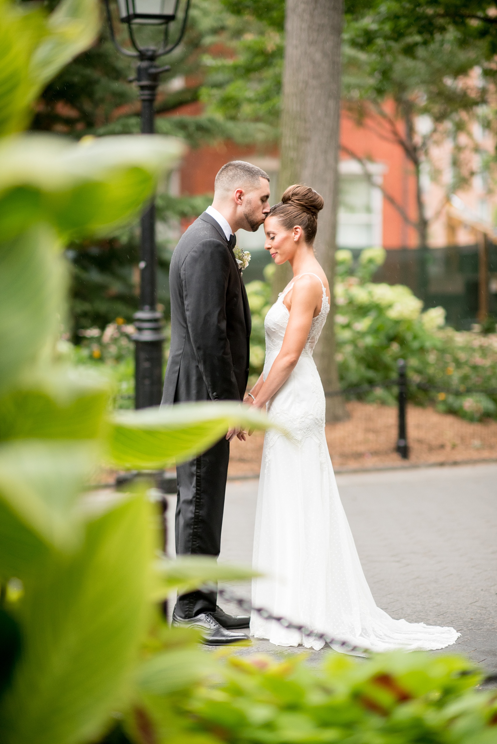
[[[165,651],[138,667],[136,685],[142,693],[168,695],[218,670],[217,660],[199,648]]]

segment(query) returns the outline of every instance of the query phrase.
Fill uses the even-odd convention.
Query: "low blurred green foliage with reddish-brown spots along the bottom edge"
[[[150,680],[152,682],[152,680]],[[487,744],[495,741],[496,701],[476,693],[478,672],[455,656],[382,654],[360,662],[325,655],[234,655],[205,684],[171,694],[161,679],[143,685],[125,719],[130,740],[146,744]]]

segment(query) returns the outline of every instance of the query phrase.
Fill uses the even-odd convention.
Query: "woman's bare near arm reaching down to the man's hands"
[[[298,283],[295,283],[283,344],[269,370],[266,381],[260,385],[255,395],[254,405],[257,408],[263,408],[266,405],[295,368],[306,344],[307,336],[309,336],[312,318],[320,299],[321,286],[317,286],[312,278],[302,277]]]

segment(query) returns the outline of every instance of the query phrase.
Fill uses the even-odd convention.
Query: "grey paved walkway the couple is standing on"
[[[449,650],[496,673],[497,464],[337,481],[376,603],[394,618],[455,626],[461,638]],[[256,498],[257,480],[228,482],[220,560],[251,562]],[[249,597],[249,586],[236,589]],[[251,650],[275,647],[257,641]]]

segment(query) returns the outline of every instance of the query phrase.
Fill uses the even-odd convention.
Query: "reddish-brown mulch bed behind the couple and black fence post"
[[[354,401],[347,403],[350,419],[328,424],[326,438],[335,469],[366,469],[408,464],[457,463],[497,458],[497,421],[464,421],[433,408],[408,405],[409,459],[395,452],[397,408]],[[234,440],[228,478],[247,478],[260,472],[264,435],[255,432],[246,442]]]

